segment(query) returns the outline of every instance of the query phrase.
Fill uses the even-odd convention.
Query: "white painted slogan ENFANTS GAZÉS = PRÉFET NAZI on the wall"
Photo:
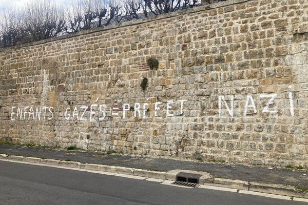
[[[274,100],[277,97],[278,94],[272,93],[272,94],[260,94],[260,99],[268,98],[268,101],[263,108],[263,113],[271,113],[271,114],[277,114],[277,110],[270,110],[270,106],[274,105]],[[218,108],[219,108],[219,116],[222,114],[223,106],[226,108],[228,114],[230,116],[234,116],[234,95],[229,96],[229,105],[227,101],[225,100],[225,96],[219,96],[218,97]],[[148,98],[149,99],[149,98]],[[148,100],[147,99],[147,100]],[[295,116],[294,113],[294,100],[293,100],[293,93],[288,93],[288,103],[290,104],[290,113],[291,116]],[[95,100],[95,103],[97,103],[98,98]],[[154,105],[154,116],[158,116],[158,112],[165,112],[167,117],[174,117],[177,116],[174,109],[174,104],[180,103],[180,115],[184,113],[184,102],[187,100],[167,100],[166,101],[166,109],[163,111],[161,102],[156,102]],[[133,106],[133,116],[134,117],[143,117],[143,119],[146,119],[150,116],[150,114],[147,112],[149,111],[149,103],[135,103],[134,105],[130,104],[123,104],[122,111],[123,111],[123,119],[127,116],[127,112],[130,111],[131,107]],[[141,108],[143,108],[143,111],[141,112]],[[43,113],[42,113],[43,109]],[[90,106],[81,106],[81,107],[74,107],[73,111],[71,111],[72,108],[67,108],[65,111],[65,120],[89,120],[91,122],[95,121],[103,121],[106,117],[106,105],[99,105],[99,104],[91,104]],[[120,114],[120,107],[115,106],[111,107],[113,109],[113,112],[111,112],[111,115],[119,116]],[[257,113],[257,108],[255,104],[255,100],[252,95],[246,96],[245,101],[245,107],[244,107],[244,116],[247,115],[248,109],[253,109],[253,113]],[[20,107],[11,107],[11,113],[10,118],[11,121],[15,120],[41,120],[41,119],[48,119],[51,120],[54,117],[54,108],[53,107],[37,107],[36,109],[32,106],[26,106],[23,108]],[[86,115],[87,111],[89,111],[89,115]],[[42,116],[44,114],[44,116]],[[87,116],[87,117],[86,117]],[[48,118],[46,118],[48,117]]]

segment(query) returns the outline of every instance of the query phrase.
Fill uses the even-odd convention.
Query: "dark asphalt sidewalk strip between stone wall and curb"
[[[155,158],[148,156],[104,154],[100,152],[85,152],[80,150],[68,151],[65,149],[23,147],[18,145],[0,145],[0,154],[70,160],[82,163],[97,163],[108,166],[163,172],[171,170],[193,170],[208,172],[215,178],[308,188],[307,170],[268,169],[267,167],[260,166],[184,161],[169,159],[167,157]]]

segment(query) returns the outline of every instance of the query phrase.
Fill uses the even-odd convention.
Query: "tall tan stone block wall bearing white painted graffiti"
[[[227,1],[3,49],[0,140],[308,168],[307,53],[307,0]]]

